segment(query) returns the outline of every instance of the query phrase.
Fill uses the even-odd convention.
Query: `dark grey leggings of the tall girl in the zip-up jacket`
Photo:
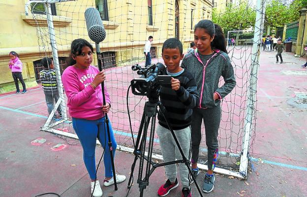
[[[213,160],[215,151],[218,150],[218,128],[220,123],[221,109],[220,105],[207,109],[193,109],[191,123],[191,141],[192,141],[192,163],[198,161],[199,146],[202,139],[201,124],[204,121],[206,145],[208,148],[208,169],[213,170]],[[216,156],[217,157],[217,156]],[[216,159],[215,157],[215,159]],[[215,164],[215,163],[214,163]]]

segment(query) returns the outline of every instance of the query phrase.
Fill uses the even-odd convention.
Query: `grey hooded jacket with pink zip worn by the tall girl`
[[[199,108],[217,106],[236,85],[230,59],[223,51],[215,50],[213,54],[201,55],[197,49],[191,50],[184,56],[181,66],[195,78],[200,97]],[[224,78],[224,84],[218,87],[220,76]],[[213,98],[215,92],[219,95],[217,100]]]

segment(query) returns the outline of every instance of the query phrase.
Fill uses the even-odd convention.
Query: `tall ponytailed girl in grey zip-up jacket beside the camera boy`
[[[215,175],[213,170],[218,156],[218,128],[221,117],[220,100],[236,85],[233,67],[226,51],[226,42],[219,25],[202,20],[194,27],[196,50],[185,55],[182,67],[193,74],[200,96],[198,107],[193,109],[191,123],[192,172],[199,174],[197,161],[202,138],[201,124],[204,121],[208,148],[208,172],[203,183],[203,192],[213,191]],[[223,76],[224,84],[218,87]]]

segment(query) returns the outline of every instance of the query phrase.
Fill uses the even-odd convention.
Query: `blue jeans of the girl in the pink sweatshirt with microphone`
[[[95,164],[95,148],[96,139],[98,138],[102,148],[104,148],[103,163],[106,177],[113,177],[110,149],[108,146],[107,126],[105,118],[98,120],[86,120],[72,118],[72,125],[83,148],[84,164],[90,174],[91,179],[96,178],[96,164]],[[112,130],[112,125],[109,122],[110,136],[112,142],[113,158],[117,147],[115,137]]]

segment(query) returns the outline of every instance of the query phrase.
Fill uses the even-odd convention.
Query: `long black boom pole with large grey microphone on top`
[[[95,42],[97,60],[98,60],[98,69],[102,71],[102,63],[101,63],[101,53],[99,43],[102,42],[106,37],[106,32],[102,24],[102,20],[99,14],[99,11],[93,7],[86,9],[85,11],[85,21],[87,25],[87,29],[89,32],[89,37],[93,42]],[[103,105],[106,104],[105,96],[104,96],[104,82],[101,83],[102,89],[102,97],[103,97]],[[110,150],[110,157],[111,157],[111,165],[113,171],[113,179],[114,179],[114,189],[118,190],[117,182],[116,182],[116,173],[115,173],[115,165],[114,165],[114,158],[113,158],[113,148],[112,148],[112,141],[111,141],[111,134],[110,134],[110,127],[109,127],[109,118],[107,113],[104,113],[105,123],[107,126],[107,134],[108,134],[108,145]]]

